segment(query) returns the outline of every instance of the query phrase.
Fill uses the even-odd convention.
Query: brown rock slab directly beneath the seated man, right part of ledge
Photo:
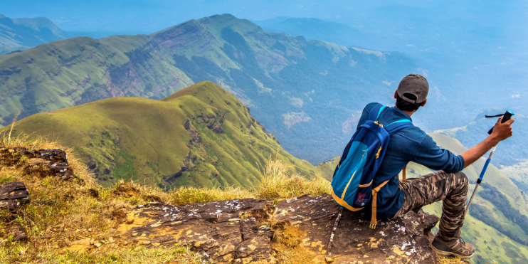
[[[302,196],[281,201],[275,210],[275,220],[289,221],[306,233],[302,245],[318,251],[317,260],[322,263],[339,211],[332,197]],[[334,233],[332,257],[335,263],[438,263],[437,255],[428,247],[431,228],[438,220],[427,213],[411,212],[381,221],[371,229],[370,218],[343,211]]]

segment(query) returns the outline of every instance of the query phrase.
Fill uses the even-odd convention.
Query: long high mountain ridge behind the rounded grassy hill
[[[339,152],[366,103],[393,93],[384,81],[416,68],[401,53],[267,33],[224,14],[148,36],[70,38],[2,56],[0,123],[19,110],[28,117],[107,97],[161,99],[211,80],[250,107],[288,152],[318,164]]]

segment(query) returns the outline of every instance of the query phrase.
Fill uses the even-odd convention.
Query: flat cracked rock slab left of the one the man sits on
[[[218,263],[248,263],[272,255],[270,228],[262,224],[268,208],[268,201],[255,199],[187,206],[152,203],[128,213],[120,230],[127,244],[178,243],[204,252]]]

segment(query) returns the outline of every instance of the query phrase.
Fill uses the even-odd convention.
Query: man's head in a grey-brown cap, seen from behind
[[[426,105],[429,83],[422,75],[413,73],[401,79],[398,90],[394,93],[396,107],[399,110],[414,112]]]

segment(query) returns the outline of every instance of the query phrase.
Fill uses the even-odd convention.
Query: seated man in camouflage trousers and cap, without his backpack
[[[381,112],[378,122],[391,124],[397,120],[411,120],[413,113],[419,107],[426,105],[428,91],[429,84],[426,78],[419,74],[407,75],[401,80],[398,90],[394,93],[396,107]],[[374,102],[366,105],[359,119],[358,128],[376,105],[379,104]],[[512,136],[514,120],[503,124],[500,123],[501,120],[502,117],[487,139],[458,156],[446,149],[440,149],[434,140],[418,127],[408,127],[392,134],[385,157],[372,184],[379,186],[389,180],[378,193],[376,210],[378,217],[395,218],[411,210],[418,211],[422,206],[435,201],[443,201],[440,231],[431,248],[438,255],[472,258],[475,248],[460,238],[468,195],[468,178],[462,169],[482,157],[500,141]],[[436,172],[400,183],[398,173],[408,162],[422,164]]]

